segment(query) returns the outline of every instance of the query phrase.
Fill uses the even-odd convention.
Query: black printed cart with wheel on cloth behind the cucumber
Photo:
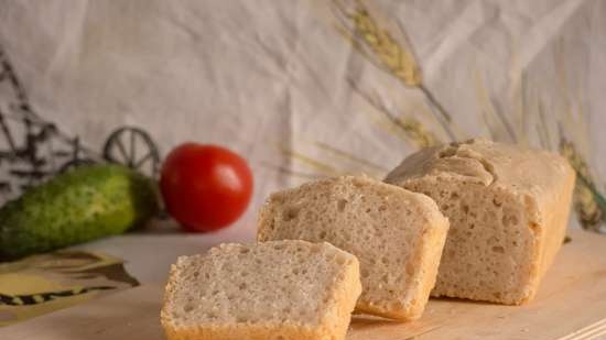
[[[0,204],[75,166],[119,163],[155,177],[160,153],[149,133],[122,127],[101,152],[45,121],[32,107],[18,74],[0,46]]]

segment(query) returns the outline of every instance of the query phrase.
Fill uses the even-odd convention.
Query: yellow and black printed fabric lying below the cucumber
[[[0,263],[0,327],[138,285],[112,256],[55,252]]]

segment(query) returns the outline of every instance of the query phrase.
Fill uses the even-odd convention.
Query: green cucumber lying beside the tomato
[[[130,168],[75,168],[0,208],[0,260],[119,234],[158,209],[155,182]]]

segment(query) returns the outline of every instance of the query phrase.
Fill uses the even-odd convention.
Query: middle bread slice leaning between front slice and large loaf
[[[344,176],[270,196],[258,240],[327,241],[360,261],[358,311],[401,320],[423,312],[448,221],[429,197],[368,177]]]

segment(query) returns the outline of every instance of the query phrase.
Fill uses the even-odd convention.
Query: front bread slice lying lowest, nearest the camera
[[[340,340],[361,290],[357,259],[328,243],[221,244],[171,268],[170,340]]]

